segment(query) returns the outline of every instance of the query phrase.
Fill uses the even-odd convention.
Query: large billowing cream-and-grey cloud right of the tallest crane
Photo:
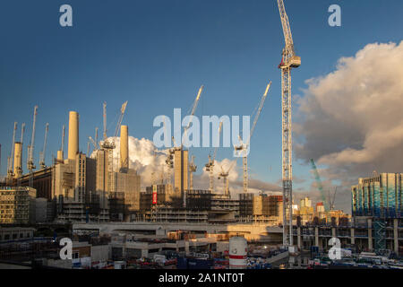
[[[403,41],[369,44],[308,80],[297,101],[297,158],[327,167],[321,177],[339,179],[344,193],[373,170],[403,171],[402,61]]]

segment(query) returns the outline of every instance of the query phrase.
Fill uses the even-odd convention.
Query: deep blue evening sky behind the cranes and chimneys
[[[73,27],[59,25],[62,4],[73,7]],[[328,24],[330,4],[341,7],[341,27]],[[301,67],[292,72],[293,121],[296,126],[294,190],[296,196],[318,197],[309,164],[309,159],[313,158],[319,161],[326,189],[339,185],[336,207],[349,212],[349,185],[358,177],[369,176],[369,172],[378,168],[387,170],[390,166],[394,170],[387,171],[399,172],[403,166],[400,167],[390,154],[387,156],[382,151],[369,149],[369,153],[378,152],[378,157],[358,163],[354,161],[361,166],[353,165],[346,170],[343,167],[348,160],[340,161],[336,153],[348,149],[359,151],[368,143],[382,144],[372,142],[372,129],[364,128],[370,121],[365,121],[365,109],[360,110],[363,107],[360,103],[368,102],[364,101],[365,96],[374,94],[378,99],[374,103],[376,108],[376,105],[382,105],[382,94],[390,94],[393,98],[401,95],[403,88],[398,84],[391,92],[390,85],[382,86],[375,93],[373,90],[364,91],[360,97],[353,88],[337,90],[337,85],[344,85],[346,81],[331,82],[329,76],[341,73],[341,79],[346,80],[353,74],[358,82],[363,77],[371,82],[372,75],[362,74],[359,70],[378,63],[375,59],[379,55],[393,55],[388,62],[391,65],[382,65],[383,70],[374,66],[374,72],[382,71],[379,72],[382,76],[391,67],[399,68],[401,60],[393,61],[399,58],[399,46],[374,46],[372,53],[364,50],[361,53],[363,63],[356,63],[359,59],[355,57],[369,44],[393,42],[399,45],[403,3],[400,0],[390,0],[387,4],[381,0],[287,0],[285,5],[296,53],[302,57]],[[80,114],[80,149],[86,152],[88,136],[94,136],[96,126],[102,128],[104,101],[107,101],[108,135],[114,133],[118,110],[128,100],[123,123],[129,126],[129,134],[139,140],[152,140],[157,130],[152,126],[154,117],[173,117],[174,108],[183,109],[184,114],[192,106],[201,84],[204,91],[196,116],[243,116],[253,112],[267,83],[272,81],[251,139],[248,164],[254,188],[280,186],[281,91],[278,65],[284,38],[277,1],[4,0],[0,4],[0,30],[2,175],[6,172],[14,121],[18,122],[19,128],[22,122],[26,123],[23,148],[23,162],[26,162],[26,145],[30,140],[35,105],[39,105],[35,160],[39,160],[45,125],[49,123],[46,161],[50,165],[52,155],[55,156],[60,148],[62,126],[67,126],[69,110]],[[383,52],[378,53],[377,48]],[[354,63],[340,67],[338,63],[343,57],[354,57],[350,60]],[[352,74],[343,75],[343,71],[348,72],[348,69],[352,69]],[[310,79],[313,80],[309,82]],[[328,81],[321,82],[322,79]],[[387,79],[385,81],[389,81]],[[350,86],[354,87],[356,81],[351,81]],[[334,97],[327,97],[327,106],[323,106],[321,99],[330,94]],[[357,117],[349,122],[332,121],[346,118],[351,95],[357,95],[354,102],[357,109],[349,110],[349,114],[358,110]],[[331,111],[335,103],[346,105],[339,105],[339,109]],[[395,107],[403,108],[399,100],[395,103]],[[383,107],[385,117],[388,116],[388,107]],[[306,116],[311,117],[306,120]],[[359,119],[363,119],[363,126],[354,125]],[[333,126],[326,126],[326,120]],[[355,126],[355,129],[350,126]],[[330,135],[332,128],[337,127],[340,127],[339,133]],[[378,137],[382,137],[383,127],[380,124],[381,135]],[[360,134],[363,129],[366,133]],[[360,136],[350,136],[338,142],[340,137],[356,133]],[[394,130],[390,133],[395,135]],[[19,136],[20,130],[17,139]],[[394,146],[396,151],[399,147],[399,144]],[[318,149],[322,150],[318,152]],[[212,152],[211,148],[191,150],[199,167],[196,174],[201,178],[201,167],[209,152]],[[230,148],[219,149],[217,160],[233,160],[231,154]],[[382,155],[390,160],[382,161],[382,165],[377,167]],[[347,159],[350,156],[353,155],[347,154]],[[390,161],[394,164],[390,165]],[[370,168],[368,163],[372,165]],[[237,162],[236,169],[238,177],[235,180],[239,181],[241,161]]]

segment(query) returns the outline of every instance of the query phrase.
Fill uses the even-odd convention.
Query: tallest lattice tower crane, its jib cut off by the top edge
[[[289,247],[293,246],[291,69],[301,65],[301,57],[296,56],[284,1],[278,0],[277,3],[286,44],[279,69],[281,69],[283,245]]]

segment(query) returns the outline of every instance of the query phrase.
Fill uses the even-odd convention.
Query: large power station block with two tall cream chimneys
[[[123,221],[138,212],[140,176],[129,169],[127,126],[121,128],[120,167],[113,166],[113,150],[101,147],[92,157],[79,152],[79,115],[74,111],[69,113],[68,135],[68,157],[64,160],[63,152],[57,152],[52,177],[57,220]]]

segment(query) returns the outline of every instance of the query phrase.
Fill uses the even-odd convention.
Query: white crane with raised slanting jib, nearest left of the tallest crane
[[[251,142],[251,137],[253,135],[253,131],[254,131],[254,128],[256,126],[256,123],[257,123],[257,121],[259,119],[259,116],[261,115],[264,101],[266,100],[267,94],[268,94],[268,92],[270,90],[270,85],[271,85],[271,81],[267,85],[266,91],[264,91],[264,94],[262,96],[262,100],[259,103],[259,108],[257,109],[256,115],[254,116],[254,119],[253,119],[253,125],[252,125],[252,129],[251,129],[251,133],[249,134],[249,137],[246,139],[246,143],[243,143],[241,137],[239,137],[240,144],[235,146],[235,151],[238,154],[242,155],[242,161],[243,161],[243,165],[244,165],[244,193],[248,192],[248,149],[249,149],[249,143]]]

